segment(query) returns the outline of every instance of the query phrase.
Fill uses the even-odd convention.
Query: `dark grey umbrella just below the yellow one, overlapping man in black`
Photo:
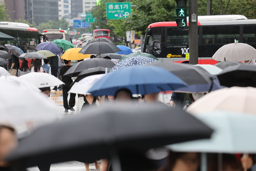
[[[80,72],[83,70],[90,70],[95,69],[97,67],[103,67],[103,68],[113,68],[117,63],[114,61],[111,61],[109,59],[99,59],[99,58],[93,58],[93,59],[87,59],[82,62],[78,62],[75,65],[71,66],[67,72],[64,74],[64,76],[69,77],[77,77]]]

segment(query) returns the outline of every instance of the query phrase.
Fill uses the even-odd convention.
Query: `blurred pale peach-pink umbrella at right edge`
[[[229,89],[220,89],[208,93],[193,102],[187,108],[187,112],[206,113],[218,110],[238,113],[253,113],[256,103],[256,88],[232,87]]]

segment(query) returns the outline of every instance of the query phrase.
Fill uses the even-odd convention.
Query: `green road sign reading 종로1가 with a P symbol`
[[[131,3],[106,3],[106,9],[109,20],[125,19],[131,13]]]

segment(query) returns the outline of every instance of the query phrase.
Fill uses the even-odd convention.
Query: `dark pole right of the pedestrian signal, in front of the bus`
[[[194,14],[195,18],[192,17]],[[198,64],[197,0],[188,0],[189,64]],[[196,22],[192,22],[196,20]]]

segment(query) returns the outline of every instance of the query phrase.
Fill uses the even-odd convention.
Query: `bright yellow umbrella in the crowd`
[[[81,59],[85,59],[85,58],[90,58],[90,54],[80,54],[78,53],[82,48],[80,47],[74,47],[74,48],[70,48],[68,50],[65,51],[65,53],[62,55],[61,59],[66,59],[67,61],[70,60],[81,60]]]

